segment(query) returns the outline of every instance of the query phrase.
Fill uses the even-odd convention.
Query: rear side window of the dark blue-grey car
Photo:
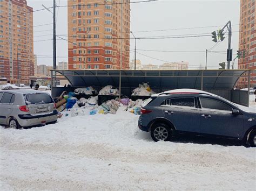
[[[185,107],[195,107],[193,97],[178,97],[167,99],[164,102],[164,105],[175,105],[175,106],[185,106]]]

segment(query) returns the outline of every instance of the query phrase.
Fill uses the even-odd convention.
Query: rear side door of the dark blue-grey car
[[[178,131],[199,132],[200,112],[196,108],[194,97],[176,97],[166,99],[163,114]]]

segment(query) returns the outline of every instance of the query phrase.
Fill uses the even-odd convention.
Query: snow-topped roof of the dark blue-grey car
[[[215,94],[211,94],[211,93],[208,93],[207,91],[202,91],[198,89],[173,89],[169,91],[164,91],[159,94],[153,94],[152,97],[170,95],[170,94],[205,94],[205,95],[217,97],[217,95]]]

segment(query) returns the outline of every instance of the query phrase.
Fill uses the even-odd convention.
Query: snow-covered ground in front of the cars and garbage
[[[0,128],[0,190],[255,190],[255,148],[158,142],[138,116],[77,116]]]

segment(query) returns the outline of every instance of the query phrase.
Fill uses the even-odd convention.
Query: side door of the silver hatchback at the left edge
[[[12,112],[12,107],[14,104],[15,95],[11,93],[3,93],[0,103],[0,123],[6,124],[6,119],[10,116]]]

